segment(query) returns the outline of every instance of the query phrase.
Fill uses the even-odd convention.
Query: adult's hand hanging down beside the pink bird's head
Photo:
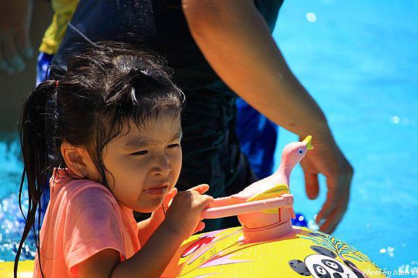
[[[313,141],[315,149],[308,152],[300,164],[309,199],[318,197],[318,174],[323,174],[327,180],[327,199],[316,217],[316,222],[321,231],[331,234],[346,213],[353,167],[332,136],[314,138]]]

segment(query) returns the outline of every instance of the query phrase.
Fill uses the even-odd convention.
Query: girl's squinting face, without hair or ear
[[[181,136],[180,117],[162,111],[144,128],[130,122],[126,135],[109,142],[103,161],[119,204],[144,213],[161,206],[180,174]]]

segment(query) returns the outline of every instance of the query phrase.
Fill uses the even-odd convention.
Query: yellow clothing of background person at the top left
[[[52,17],[51,25],[45,31],[39,51],[54,55],[64,38],[67,24],[70,22],[79,0],[52,0],[51,3],[54,17]]]

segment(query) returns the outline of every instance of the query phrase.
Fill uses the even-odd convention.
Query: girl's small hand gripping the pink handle
[[[207,184],[201,184],[187,191],[180,191],[167,209],[164,222],[184,239],[205,227],[201,222],[202,211],[213,202],[213,197],[202,195],[208,189]]]

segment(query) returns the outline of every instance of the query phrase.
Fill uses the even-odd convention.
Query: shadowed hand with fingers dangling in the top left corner
[[[33,0],[0,2],[0,70],[22,72],[24,58],[33,56],[29,35]]]

